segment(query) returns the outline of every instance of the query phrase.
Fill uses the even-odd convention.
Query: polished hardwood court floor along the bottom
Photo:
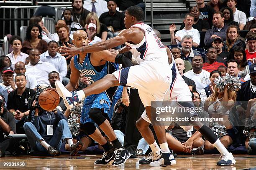
[[[138,160],[128,159],[125,165],[112,167],[111,165],[94,166],[93,162],[100,158],[101,155],[78,155],[69,157],[68,155],[61,155],[58,157],[32,157],[32,156],[19,156],[19,157],[2,157],[0,158],[0,170],[5,169],[27,169],[27,170],[241,170],[241,169],[256,169],[256,156],[246,154],[234,154],[236,164],[232,166],[217,166],[220,155],[180,155],[176,158],[177,164],[172,167],[155,168],[149,165],[139,165]],[[6,167],[4,163],[26,163],[25,166],[20,167]],[[112,163],[112,162],[111,162]]]

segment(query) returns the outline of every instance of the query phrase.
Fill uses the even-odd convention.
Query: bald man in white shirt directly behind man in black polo
[[[38,85],[38,82],[36,81],[36,77],[32,74],[26,73],[26,66],[23,62],[19,61],[15,64],[14,72],[15,72],[14,79],[16,75],[20,73],[24,74],[26,76],[26,81],[27,81],[26,87],[30,89],[36,89],[36,85]]]

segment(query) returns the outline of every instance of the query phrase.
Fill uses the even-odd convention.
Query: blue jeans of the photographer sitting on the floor
[[[40,152],[48,152],[44,146],[40,144],[40,140],[44,140],[41,135],[37,132],[35,125],[31,122],[26,122],[23,125],[28,142],[32,150]],[[62,119],[59,121],[57,128],[54,129],[54,135],[51,140],[46,141],[49,145],[53,146],[57,150],[60,150],[62,141],[65,139],[72,139],[72,135],[69,130],[69,125],[66,120]]]

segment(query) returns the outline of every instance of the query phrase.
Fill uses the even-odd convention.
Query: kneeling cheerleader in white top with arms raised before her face
[[[204,110],[209,113],[210,117],[219,118],[219,125],[225,126],[226,135],[219,136],[221,143],[228,147],[233,142],[235,142],[236,134],[233,129],[233,125],[229,121],[229,110],[233,107],[234,102],[236,102],[236,92],[228,90],[228,85],[224,87],[224,92],[215,86],[214,93],[211,97],[205,100]],[[222,121],[223,120],[223,121]],[[210,128],[213,126],[210,124]],[[207,140],[205,140],[205,149],[212,150],[214,146]]]

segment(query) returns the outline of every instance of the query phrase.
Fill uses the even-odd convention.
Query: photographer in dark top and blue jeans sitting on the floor
[[[42,153],[48,151],[51,156],[56,156],[60,154],[62,142],[66,142],[70,147],[70,155],[76,155],[82,144],[73,144],[66,117],[59,110],[49,112],[35,106],[34,100],[32,104],[35,108],[32,111],[34,117],[31,122],[26,122],[23,126],[31,149]]]

